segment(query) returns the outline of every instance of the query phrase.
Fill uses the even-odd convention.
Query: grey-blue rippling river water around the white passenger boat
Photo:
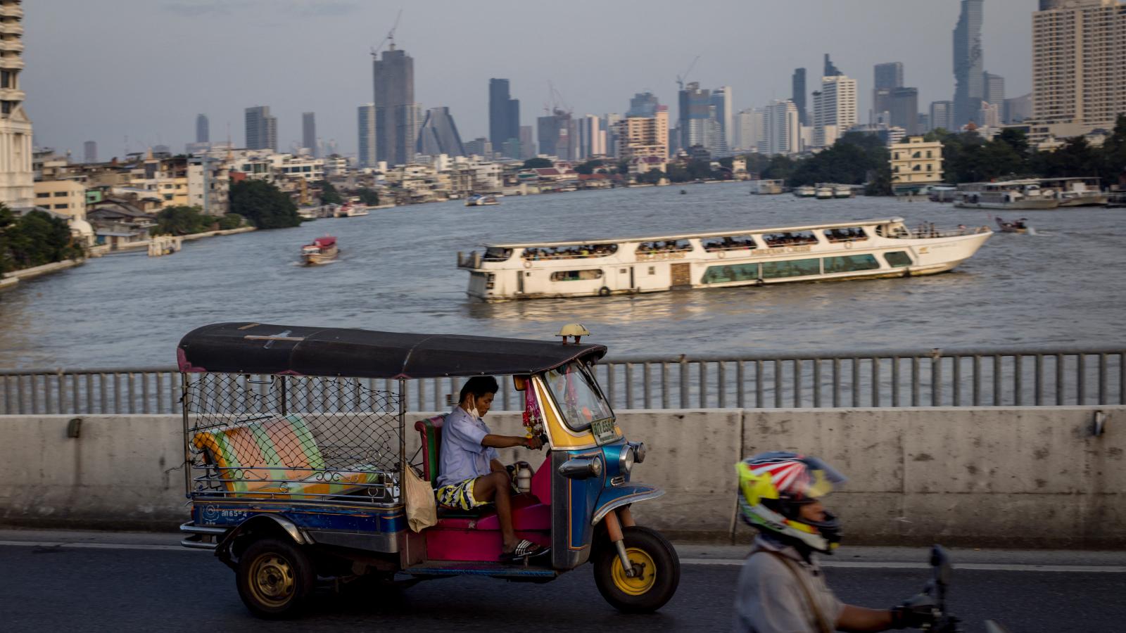
[[[745,184],[506,197],[318,220],[186,242],[20,283],[0,294],[0,368],[171,367],[177,341],[217,321],[549,338],[579,321],[610,354],[873,351],[1120,345],[1120,211],[1021,212],[1036,235],[997,234],[953,273],[636,296],[484,304],[455,252],[484,242],[723,231],[902,216],[909,225],[993,223],[926,200],[751,196]],[[1009,214],[1015,219],[1016,212]],[[339,238],[340,259],[297,266],[301,244]]]

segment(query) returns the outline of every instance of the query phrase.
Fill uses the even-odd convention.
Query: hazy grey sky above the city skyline
[[[958,0],[34,0],[24,3],[23,86],[36,143],[99,159],[194,141],[227,126],[244,142],[243,109],[268,105],[278,142],[318,136],[356,151],[356,106],[373,100],[369,48],[399,9],[395,43],[414,57],[415,98],[449,106],[463,140],[488,135],[489,78],[508,78],[521,124],[551,100],[577,115],[623,113],[652,91],[677,116],[676,78],[733,88],[735,109],[789,98],[790,73],[820,78],[822,54],[859,80],[867,121],[873,65],[900,61],[920,110],[954,93]],[[1031,83],[1036,0],[985,0],[985,69],[1007,96]],[[811,101],[812,105],[812,101]],[[127,137],[127,141],[126,141]]]

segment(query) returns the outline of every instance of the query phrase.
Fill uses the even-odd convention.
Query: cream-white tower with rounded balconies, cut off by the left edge
[[[24,7],[20,0],[0,1],[0,203],[11,207],[35,204],[32,171],[32,119],[24,110],[20,73],[24,70]]]

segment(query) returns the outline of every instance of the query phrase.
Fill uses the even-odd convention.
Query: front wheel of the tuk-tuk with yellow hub
[[[635,573],[627,574],[613,543],[593,553],[595,585],[614,608],[654,612],[672,598],[680,583],[680,559],[669,541],[647,527],[626,527],[622,535]]]

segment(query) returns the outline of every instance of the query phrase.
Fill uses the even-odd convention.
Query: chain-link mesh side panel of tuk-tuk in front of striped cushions
[[[190,494],[400,501],[397,393],[373,381],[193,374]]]

